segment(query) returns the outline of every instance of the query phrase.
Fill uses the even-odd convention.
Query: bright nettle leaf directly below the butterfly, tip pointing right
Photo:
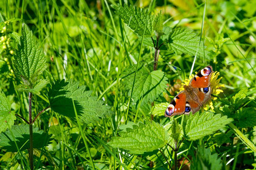
[[[232,118],[221,114],[200,113],[189,114],[185,125],[186,137],[192,141],[200,139],[214,131],[224,128],[226,124],[232,122]]]

